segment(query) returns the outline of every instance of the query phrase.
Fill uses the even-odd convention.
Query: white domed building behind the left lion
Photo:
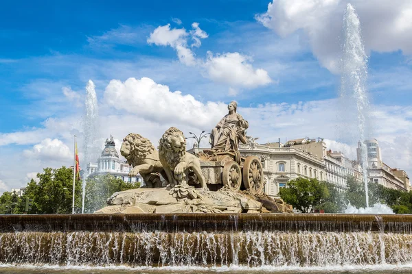
[[[115,148],[115,140],[113,136],[106,139],[104,142],[104,149],[100,153],[97,163],[90,162],[87,164],[86,177],[110,174],[116,178],[122,179],[124,182],[143,182],[140,175],[129,177],[128,173],[133,169],[127,161],[119,158],[119,153]]]

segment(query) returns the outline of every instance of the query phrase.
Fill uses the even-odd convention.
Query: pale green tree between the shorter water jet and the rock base
[[[92,213],[107,206],[106,200],[114,192],[139,188],[140,183],[124,182],[112,175],[89,177],[86,181],[86,195],[84,197],[84,212]]]

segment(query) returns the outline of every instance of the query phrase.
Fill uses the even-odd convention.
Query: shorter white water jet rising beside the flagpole
[[[83,152],[84,164],[98,158],[100,138],[98,97],[95,92],[95,84],[89,80],[86,85],[86,98],[84,100],[85,113],[83,116]],[[84,196],[86,192],[86,178],[82,181],[82,213],[84,213]]]

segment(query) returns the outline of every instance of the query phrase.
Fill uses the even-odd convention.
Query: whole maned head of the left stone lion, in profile
[[[146,158],[153,150],[155,147],[149,139],[136,133],[130,133],[123,138],[120,154],[126,158],[128,164],[135,166],[138,159]]]

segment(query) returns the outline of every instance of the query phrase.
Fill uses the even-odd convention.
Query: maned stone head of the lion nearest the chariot
[[[159,140],[159,154],[174,168],[186,153],[186,139],[180,129],[170,127]]]

